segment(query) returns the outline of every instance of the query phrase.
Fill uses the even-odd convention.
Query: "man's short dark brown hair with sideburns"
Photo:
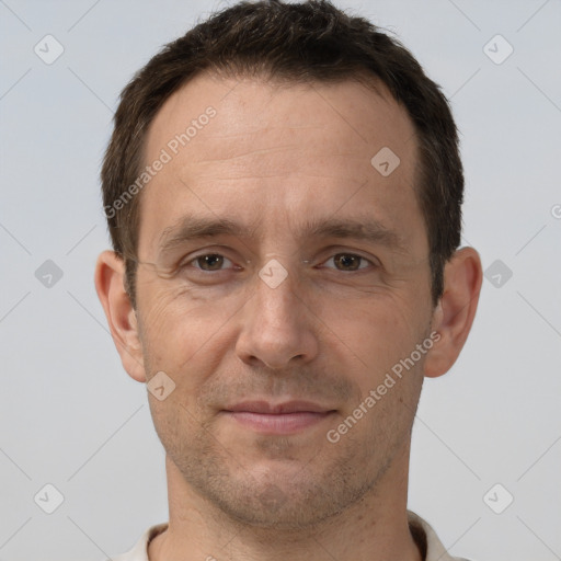
[[[263,0],[217,12],[165,45],[121,94],[101,180],[113,248],[125,260],[133,306],[139,195],[126,202],[123,195],[142,168],[147,130],[158,110],[205,70],[287,83],[342,82],[367,75],[386,84],[407,108],[419,137],[415,192],[427,231],[436,305],[444,289],[444,265],[460,243],[463,198],[458,135],[446,98],[411,53],[369,21],[346,14],[329,0]]]

